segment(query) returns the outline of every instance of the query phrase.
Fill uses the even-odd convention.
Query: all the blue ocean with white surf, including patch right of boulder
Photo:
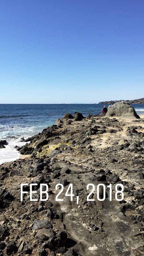
[[[144,104],[131,105],[137,114],[144,113]],[[67,112],[96,115],[102,108],[103,104],[0,104],[0,140],[7,140],[6,148],[0,149],[0,164],[19,157],[14,146],[24,144],[19,142],[21,137],[38,134]]]

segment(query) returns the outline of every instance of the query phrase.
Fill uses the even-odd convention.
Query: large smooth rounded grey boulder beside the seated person
[[[137,115],[134,107],[123,102],[116,102],[108,107],[108,111],[105,114],[107,117],[121,116],[123,118],[140,118]]]

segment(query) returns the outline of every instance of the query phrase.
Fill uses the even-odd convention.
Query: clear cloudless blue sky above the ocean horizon
[[[143,0],[1,0],[0,103],[144,97]]]

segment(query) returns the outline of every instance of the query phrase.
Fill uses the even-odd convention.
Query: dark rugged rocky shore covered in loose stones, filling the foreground
[[[144,120],[66,113],[29,140],[26,158],[0,166],[0,256],[144,255]]]

